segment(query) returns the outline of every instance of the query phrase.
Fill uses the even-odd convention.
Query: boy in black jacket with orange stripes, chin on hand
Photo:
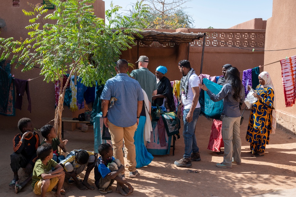
[[[9,183],[10,189],[15,189],[15,193],[20,190],[32,180],[32,170],[38,159],[36,150],[40,145],[39,135],[33,131],[33,124],[29,118],[22,118],[18,121],[17,127],[20,129],[21,134],[17,134],[13,138],[13,151],[10,155],[10,167],[14,174],[12,181]],[[20,168],[25,168],[25,174],[28,178],[17,184],[19,177],[17,171]]]

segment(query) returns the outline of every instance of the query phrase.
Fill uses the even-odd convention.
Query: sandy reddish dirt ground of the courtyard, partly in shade
[[[130,196],[255,196],[278,190],[296,188],[296,136],[292,133],[276,130],[276,134],[270,137],[270,145],[266,147],[264,157],[251,157],[249,143],[245,140],[248,124],[248,116],[245,113],[244,123],[241,126],[241,157],[242,164],[233,164],[232,169],[222,169],[215,166],[223,161],[223,156],[207,150],[212,122],[201,116],[196,126],[196,138],[201,152],[201,161],[192,162],[190,168],[176,167],[173,163],[183,156],[184,140],[181,136],[176,141],[175,156],[170,155],[154,156],[153,161],[148,166],[139,168],[139,175],[136,178],[128,178],[127,181],[134,187],[134,192]],[[34,123],[34,121],[33,121]],[[182,126],[180,133],[182,133]],[[1,168],[0,168],[0,196],[22,196],[37,197],[32,191],[31,183],[25,186],[22,191],[15,194],[9,189],[9,182],[13,178],[13,173],[9,166],[12,153],[12,139],[17,130],[1,130],[2,144]],[[40,133],[39,133],[40,134]],[[41,136],[41,135],[40,135]],[[65,139],[68,139],[68,150],[73,149],[94,149],[93,130],[83,133],[80,130],[65,132]],[[196,173],[195,173],[196,172]],[[24,171],[20,170],[21,181],[25,179]],[[82,174],[82,178],[83,178]],[[94,173],[92,171],[89,182],[94,184]],[[81,191],[74,185],[64,183],[65,196],[103,196],[98,189]],[[108,197],[121,196],[115,193],[108,193]],[[54,192],[47,193],[47,197],[54,196]]]

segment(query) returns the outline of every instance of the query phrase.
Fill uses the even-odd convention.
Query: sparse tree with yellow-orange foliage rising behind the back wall
[[[153,29],[177,29],[194,28],[191,15],[185,11],[183,6],[191,0],[142,0],[132,4],[132,8],[125,14],[132,16],[139,9],[145,9],[148,13],[141,18],[145,19],[142,28]],[[138,19],[140,20],[140,19]]]

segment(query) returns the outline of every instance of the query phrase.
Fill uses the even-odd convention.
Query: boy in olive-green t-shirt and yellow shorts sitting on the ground
[[[45,143],[38,147],[36,161],[32,176],[33,191],[41,197],[45,196],[46,192],[52,191],[57,185],[55,196],[61,197],[61,193],[65,194],[63,183],[65,180],[65,172],[63,167],[52,160],[53,150],[51,144]],[[52,167],[55,168],[52,171]]]

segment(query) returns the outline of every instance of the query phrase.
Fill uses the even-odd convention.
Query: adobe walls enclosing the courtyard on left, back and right
[[[42,3],[43,0],[34,0],[34,4]],[[249,68],[254,68],[259,65],[274,62],[276,60],[283,59],[286,56],[295,55],[295,49],[289,51],[280,52],[263,52],[268,49],[282,49],[293,48],[295,46],[295,39],[291,39],[289,36],[294,36],[295,24],[291,23],[283,27],[286,21],[293,21],[295,13],[293,9],[296,7],[296,3],[289,0],[288,3],[281,3],[279,0],[273,1],[273,17],[266,21],[262,19],[253,19],[241,24],[238,24],[229,29],[186,29],[181,28],[177,30],[156,30],[167,32],[186,32],[186,33],[207,33],[210,37],[205,40],[204,60],[202,73],[209,74],[210,76],[220,76],[222,74],[222,66],[226,63],[230,63],[236,66],[239,71],[243,71]],[[283,6],[285,5],[285,6]],[[2,3],[2,12],[0,12],[0,36],[4,38],[14,37],[19,39],[20,37],[26,38],[28,36],[25,26],[29,24],[29,17],[23,15],[22,9],[30,10],[30,7],[24,1],[9,0]],[[97,0],[94,4],[95,14],[98,17],[105,18],[105,2]],[[282,9],[282,10],[281,10]],[[283,10],[285,12],[283,12]],[[53,10],[49,10],[53,12]],[[14,17],[11,17],[14,16]],[[266,27],[266,34],[265,34]],[[268,33],[267,33],[268,32]],[[285,33],[280,36],[280,33]],[[277,41],[275,42],[275,39]],[[280,38],[280,39],[279,39]],[[219,42],[222,41],[222,42]],[[281,40],[281,41],[280,41]],[[168,68],[166,76],[172,80],[180,80],[181,75],[177,67],[177,63],[180,60],[188,58],[188,46],[189,46],[189,58],[192,67],[199,74],[201,65],[201,52],[202,52],[202,39],[194,40],[192,42],[184,44],[174,43],[142,43],[139,42],[139,55],[146,55],[149,57],[148,68],[151,72],[154,72],[159,65],[164,65]],[[235,47],[231,47],[233,45]],[[265,47],[268,46],[268,48]],[[241,48],[249,49],[243,50]],[[258,51],[252,51],[252,49]],[[127,59],[130,63],[135,64],[137,61],[137,46],[133,46],[132,49],[122,52],[121,58]],[[32,71],[21,72],[22,68],[15,69],[14,65],[11,65],[11,73],[18,79],[33,79],[39,77],[40,70],[34,68]],[[276,88],[277,96],[277,108],[279,124],[288,125],[289,118],[295,118],[295,106],[292,108],[285,108],[283,98],[283,87],[281,82],[280,64],[274,64],[264,67],[264,70],[271,73],[273,84]],[[132,69],[130,69],[131,71]],[[263,71],[263,69],[261,68]],[[277,75],[276,75],[277,74]],[[242,75],[242,73],[241,73]],[[54,119],[55,112],[55,90],[53,83],[46,83],[43,81],[43,77],[29,81],[32,113],[27,110],[28,101],[26,96],[23,98],[22,110],[16,109],[16,116],[6,117],[1,116],[0,129],[17,129],[17,121],[20,118],[31,118],[36,129],[47,124]],[[71,112],[68,107],[65,106],[63,111],[63,117],[77,117],[78,114],[83,113],[84,109],[76,112]],[[295,120],[295,119],[294,119]],[[5,124],[4,124],[5,123]],[[75,124],[65,123],[65,129],[75,128]],[[293,130],[293,124],[287,129]]]

